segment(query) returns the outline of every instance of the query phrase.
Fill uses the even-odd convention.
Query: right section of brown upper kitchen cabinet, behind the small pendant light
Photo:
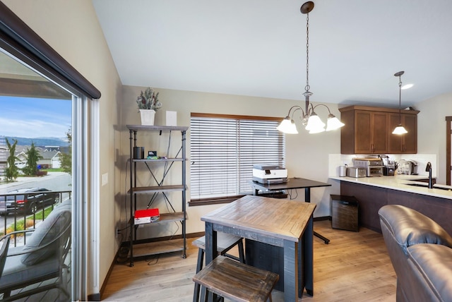
[[[389,135],[389,153],[417,153],[417,116],[415,114],[400,114],[400,121],[408,133]],[[389,129],[392,131],[399,124],[398,114],[389,114]]]

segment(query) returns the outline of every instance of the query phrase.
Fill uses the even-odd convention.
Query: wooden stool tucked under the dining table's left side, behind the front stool
[[[196,274],[197,274],[203,268],[204,253],[206,251],[206,236],[202,236],[201,238],[196,239],[191,244],[198,247],[198,262],[196,264]],[[227,254],[227,252],[234,246],[237,246],[239,248],[239,258],[237,258],[233,255]],[[217,233],[217,250],[218,250],[218,255],[225,255],[228,258],[232,258],[234,260],[238,260],[242,263],[245,263],[245,254],[244,254],[244,249],[243,249],[242,237],[218,232]],[[195,289],[194,289],[194,294],[193,294],[194,302],[199,300],[200,289],[201,289],[201,286],[199,284],[195,283]]]

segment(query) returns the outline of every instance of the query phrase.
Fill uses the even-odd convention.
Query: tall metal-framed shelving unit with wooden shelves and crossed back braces
[[[141,126],[127,125],[129,128],[130,139],[130,266],[133,266],[133,259],[147,255],[156,255],[160,253],[170,253],[174,251],[182,251],[182,258],[186,258],[186,131],[188,127],[184,126]],[[143,135],[137,135],[138,131]],[[173,150],[170,148],[172,140],[172,132],[181,133],[181,145],[177,147],[179,150],[170,154]],[[166,135],[162,135],[165,133]],[[151,140],[152,138],[152,140]],[[148,157],[140,155],[136,152],[137,140],[140,146],[143,145],[165,145],[162,142],[167,138],[167,148],[165,156]],[[151,149],[155,150],[155,149]],[[157,152],[158,155],[158,152]],[[173,166],[181,164],[180,170],[174,169]],[[180,172],[179,172],[180,171]],[[145,186],[144,186],[145,185]],[[180,195],[179,195],[180,193]],[[156,207],[157,196],[165,203],[164,206]],[[144,202],[144,203],[143,203]],[[135,224],[136,210],[148,210],[158,208],[160,217],[157,221],[144,224]],[[146,238],[138,238],[138,227],[150,227],[158,224],[167,224],[169,222],[177,222],[182,226],[183,244],[168,244],[164,249],[153,250],[146,248],[144,253],[134,253],[134,246],[141,243],[148,243]],[[152,229],[150,233],[152,234]],[[159,234],[160,235],[160,234]],[[168,238],[174,234],[168,234]],[[165,245],[164,245],[165,246]],[[138,250],[138,248],[137,248]]]

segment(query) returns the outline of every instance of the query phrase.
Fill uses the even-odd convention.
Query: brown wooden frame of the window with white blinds
[[[208,113],[197,113],[192,112],[190,116],[190,124],[192,118],[206,118],[206,119],[232,119],[235,120],[237,123],[239,121],[276,121],[280,122],[283,118],[282,117],[275,117],[275,116],[249,116],[249,115],[237,115],[237,114],[208,114]],[[277,126],[277,125],[276,125]],[[276,128],[276,127],[275,127]],[[190,155],[192,155],[192,142],[191,142],[191,136],[193,135],[194,128],[191,127],[191,134],[190,134]],[[276,130],[275,130],[276,131]],[[238,135],[238,133],[237,133]],[[280,138],[282,138],[283,142],[281,143],[281,147],[283,148],[283,158],[281,159],[280,164],[285,164],[285,134],[279,133],[278,135],[281,135]],[[238,147],[238,146],[237,146]],[[237,168],[239,170],[239,168]],[[191,182],[191,169],[190,169],[190,182]],[[191,186],[193,187],[193,186]],[[190,192],[191,193],[191,192]],[[251,192],[250,192],[251,193]],[[189,206],[197,206],[197,205],[215,205],[215,204],[222,204],[222,203],[231,203],[234,200],[237,200],[238,198],[243,197],[244,194],[239,195],[227,195],[227,196],[221,196],[221,197],[208,197],[208,198],[191,198],[189,200]]]

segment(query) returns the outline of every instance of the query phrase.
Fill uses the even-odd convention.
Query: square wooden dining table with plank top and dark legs
[[[206,263],[217,255],[217,231],[283,248],[284,301],[314,295],[315,204],[246,195],[201,217],[206,223]]]

